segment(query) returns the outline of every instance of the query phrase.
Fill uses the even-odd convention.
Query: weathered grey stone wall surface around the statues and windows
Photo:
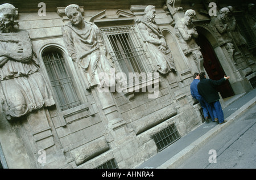
[[[104,9],[86,10],[83,14],[85,20],[93,18],[104,27],[127,19],[134,24],[142,17],[143,7],[125,7],[122,11],[107,9],[104,13]],[[203,5],[196,8],[199,10]],[[192,55],[186,56],[181,50],[171,25],[174,17],[167,7],[156,8],[155,21],[166,37],[177,73],[160,76],[157,98],[148,98],[148,92],[104,95],[96,88],[86,90],[77,65],[65,49],[61,27],[68,19],[63,8],[58,12],[59,15],[57,10],[47,12],[46,16],[20,13],[17,21],[20,29],[29,32],[40,71],[49,84],[42,52],[51,47],[63,52],[82,105],[64,112],[54,105],[13,122],[0,115],[0,142],[9,168],[96,168],[113,158],[119,168],[134,168],[158,152],[152,135],[174,123],[180,136],[184,136],[203,122],[201,106],[192,100],[189,89],[192,75],[199,71],[199,66]],[[205,18],[208,17],[197,13],[197,20]],[[154,59],[148,58],[154,67]],[[43,163],[40,163],[41,149],[46,152]]]

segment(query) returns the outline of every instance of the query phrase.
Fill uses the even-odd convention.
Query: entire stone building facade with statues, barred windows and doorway
[[[92,42],[100,58],[96,50],[89,52],[92,48],[86,55],[75,52],[89,30],[65,34],[70,1],[6,3],[15,6],[14,25],[20,30],[1,32],[0,48],[18,43],[22,52],[30,49],[35,72],[3,78],[4,67],[15,58],[6,60],[1,49],[3,168],[135,168],[204,122],[190,93],[195,72],[205,71],[211,79],[231,76],[218,89],[222,98],[256,86],[256,18],[250,1],[73,1],[85,25],[96,29],[88,36],[98,33]],[[144,19],[148,5],[155,23]],[[225,14],[226,8],[232,14]],[[191,20],[188,10],[195,12]],[[98,70],[104,61],[109,66],[102,63],[102,70],[114,76],[114,85],[90,85],[96,77],[111,80]],[[42,78],[35,78],[38,86],[31,83],[35,74]],[[24,86],[15,84],[22,78]],[[13,92],[20,88],[26,90]],[[40,93],[32,92],[38,88],[48,98],[37,100]],[[13,96],[19,92],[22,96]],[[30,92],[36,105],[22,113]]]

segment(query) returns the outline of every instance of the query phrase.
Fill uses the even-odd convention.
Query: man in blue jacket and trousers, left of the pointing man
[[[212,109],[212,106],[210,106],[197,91],[197,84],[200,82],[199,73],[195,72],[195,74],[193,75],[193,78],[194,78],[193,82],[190,85],[190,92],[191,92],[192,97],[200,102],[200,105],[203,109],[205,122],[209,123],[208,115],[210,115],[213,122],[214,122],[214,120],[217,121],[218,119],[217,119],[215,110]]]

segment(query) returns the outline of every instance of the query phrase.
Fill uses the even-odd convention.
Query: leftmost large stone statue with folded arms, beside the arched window
[[[0,96],[8,120],[55,104],[27,31],[15,28],[15,7],[0,5]]]

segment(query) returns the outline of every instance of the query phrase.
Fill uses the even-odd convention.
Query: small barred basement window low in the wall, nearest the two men
[[[152,136],[152,139],[155,141],[158,151],[162,151],[164,148],[168,147],[168,145],[180,139],[180,135],[176,126],[172,124],[171,126],[168,126],[164,130]]]

